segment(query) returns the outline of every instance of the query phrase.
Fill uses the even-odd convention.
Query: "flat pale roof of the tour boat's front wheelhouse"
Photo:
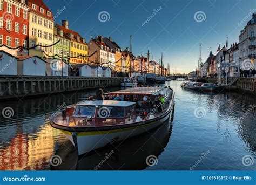
[[[97,101],[82,101],[76,104],[76,106],[86,106],[86,105],[98,105],[98,106],[116,106],[116,107],[129,107],[136,104],[130,101],[114,101],[114,100],[97,100]]]

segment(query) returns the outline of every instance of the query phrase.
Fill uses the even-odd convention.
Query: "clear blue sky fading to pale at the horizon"
[[[103,35],[115,40],[122,49],[130,46],[136,55],[147,50],[153,59],[177,72],[195,70],[201,44],[202,62],[210,50],[216,54],[219,46],[239,42],[240,30],[256,12],[255,0],[44,0],[53,15],[64,8],[55,21],[69,21],[70,29],[89,42],[91,36]],[[107,20],[99,19],[107,12]],[[60,12],[60,11],[59,11]],[[156,13],[153,13],[156,12]],[[198,13],[197,13],[198,12]],[[154,15],[152,17],[152,15]],[[198,17],[195,15],[198,15]],[[201,16],[200,16],[201,15]],[[151,16],[151,17],[150,17]],[[202,18],[202,19],[201,19]],[[146,20],[149,22],[145,23]],[[245,22],[242,23],[242,20]],[[102,20],[102,21],[100,21]],[[105,21],[105,22],[104,22]],[[151,59],[152,59],[151,54]]]

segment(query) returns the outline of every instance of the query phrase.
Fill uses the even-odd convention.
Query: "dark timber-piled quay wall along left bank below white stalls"
[[[122,77],[0,76],[0,100],[119,86]]]

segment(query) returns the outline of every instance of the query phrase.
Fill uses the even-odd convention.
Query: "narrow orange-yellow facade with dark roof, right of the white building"
[[[111,40],[111,37],[109,38],[104,37],[103,42],[115,53],[116,68],[114,70],[117,72],[121,72],[122,71],[122,48],[116,42]]]

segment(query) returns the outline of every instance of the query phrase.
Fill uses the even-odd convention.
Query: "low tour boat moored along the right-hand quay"
[[[198,83],[198,82],[182,83],[181,87],[187,88],[192,91],[204,91],[204,92],[215,92],[220,89],[220,86],[217,84]]]

